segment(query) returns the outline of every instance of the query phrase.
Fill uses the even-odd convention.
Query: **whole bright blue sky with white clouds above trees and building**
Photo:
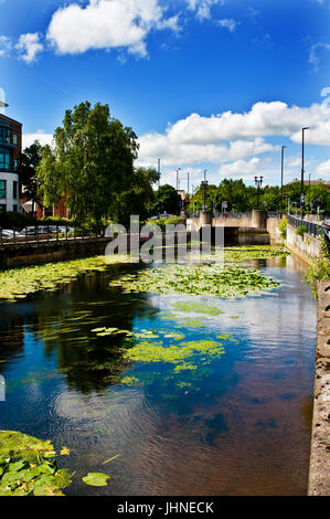
[[[181,188],[330,179],[330,0],[0,0],[0,97],[24,144],[108,103]]]

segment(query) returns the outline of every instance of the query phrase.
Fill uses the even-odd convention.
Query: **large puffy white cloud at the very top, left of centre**
[[[52,17],[47,40],[61,54],[91,49],[123,49],[147,55],[146,39],[152,30],[179,30],[178,17],[164,18],[158,0],[89,0],[73,3]]]

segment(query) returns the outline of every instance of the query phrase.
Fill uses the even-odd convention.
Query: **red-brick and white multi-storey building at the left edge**
[[[17,166],[21,151],[22,124],[0,114],[0,212],[20,210]]]

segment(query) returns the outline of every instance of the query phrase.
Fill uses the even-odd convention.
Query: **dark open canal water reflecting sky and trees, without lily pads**
[[[316,301],[294,258],[251,263],[283,286],[244,300],[125,295],[108,287],[123,272],[110,267],[1,304],[0,428],[67,446],[70,495],[307,494]],[[173,310],[194,300],[223,314]],[[128,364],[120,339],[92,332],[104,326],[185,341],[225,336],[224,353],[177,373],[168,363]],[[87,472],[111,475],[110,485],[86,486]]]

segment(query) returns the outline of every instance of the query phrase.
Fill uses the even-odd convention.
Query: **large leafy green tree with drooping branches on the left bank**
[[[44,205],[62,199],[82,222],[110,216],[131,186],[137,152],[136,134],[110,117],[108,105],[86,102],[66,110],[38,168]]]

